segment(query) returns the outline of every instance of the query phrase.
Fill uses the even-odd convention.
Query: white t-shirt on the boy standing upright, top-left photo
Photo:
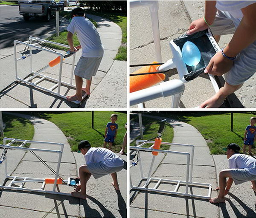
[[[73,17],[67,27],[72,34],[77,32],[82,47],[82,57],[102,57],[104,47],[99,33],[92,22],[85,17]]]

